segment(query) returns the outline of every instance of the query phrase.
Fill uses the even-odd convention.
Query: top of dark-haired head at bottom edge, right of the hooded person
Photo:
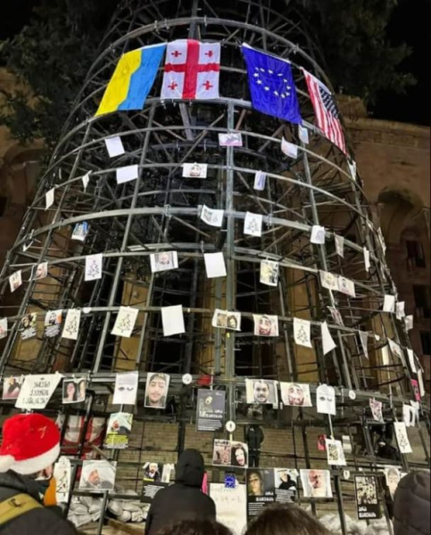
[[[319,521],[294,505],[265,507],[245,535],[329,535]]]

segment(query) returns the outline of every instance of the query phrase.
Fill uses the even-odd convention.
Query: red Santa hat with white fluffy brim
[[[0,473],[37,473],[52,465],[59,455],[60,432],[46,416],[16,415],[4,422]]]

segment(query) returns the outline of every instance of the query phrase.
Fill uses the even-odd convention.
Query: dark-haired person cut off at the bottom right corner
[[[430,535],[430,476],[413,472],[398,483],[394,497],[395,535]]]

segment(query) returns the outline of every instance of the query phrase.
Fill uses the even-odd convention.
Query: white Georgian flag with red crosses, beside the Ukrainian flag
[[[162,99],[219,98],[220,43],[179,39],[168,44]]]

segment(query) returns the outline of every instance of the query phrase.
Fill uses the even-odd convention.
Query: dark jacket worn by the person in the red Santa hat
[[[11,470],[0,473],[0,502],[17,494],[29,494],[41,503],[39,483]],[[73,525],[54,510],[37,507],[0,526],[1,535],[76,535]]]

